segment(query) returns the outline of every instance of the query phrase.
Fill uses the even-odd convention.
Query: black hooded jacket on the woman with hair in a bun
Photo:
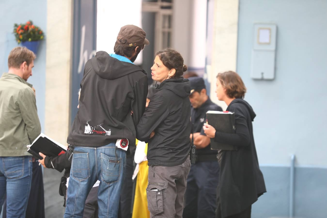
[[[148,165],[177,166],[182,164],[190,151],[189,99],[190,82],[188,79],[166,79],[146,108],[136,127],[136,137],[148,141]],[[154,137],[150,138],[154,131]]]

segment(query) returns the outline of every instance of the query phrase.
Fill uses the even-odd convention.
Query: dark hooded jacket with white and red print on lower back
[[[135,126],[145,110],[146,94],[144,70],[107,52],[97,52],[85,64],[79,110],[67,143],[100,147],[117,139],[128,139],[132,151]]]

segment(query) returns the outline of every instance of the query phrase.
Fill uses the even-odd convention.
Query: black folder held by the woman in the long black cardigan
[[[216,131],[235,133],[234,112],[209,110],[206,114],[208,124],[213,126]],[[210,145],[213,150],[237,150],[235,145],[215,142],[215,138],[210,139]]]

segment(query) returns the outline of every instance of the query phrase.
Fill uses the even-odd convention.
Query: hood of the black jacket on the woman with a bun
[[[168,89],[182,98],[189,96],[191,93],[190,81],[183,77],[178,79],[165,79],[159,85],[158,89]]]

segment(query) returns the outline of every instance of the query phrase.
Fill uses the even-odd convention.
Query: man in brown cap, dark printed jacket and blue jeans
[[[149,44],[146,33],[123,26],[114,46],[88,60],[81,81],[79,110],[67,143],[74,145],[64,217],[82,217],[96,180],[98,217],[117,217],[126,152],[135,149],[135,126],[146,105],[146,72],[133,61]]]

